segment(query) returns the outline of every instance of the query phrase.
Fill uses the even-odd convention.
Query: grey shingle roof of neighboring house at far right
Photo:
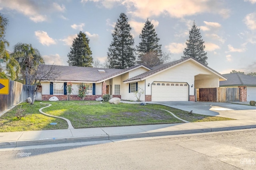
[[[256,86],[256,77],[240,73],[223,74],[228,80],[220,82],[220,86]]]

